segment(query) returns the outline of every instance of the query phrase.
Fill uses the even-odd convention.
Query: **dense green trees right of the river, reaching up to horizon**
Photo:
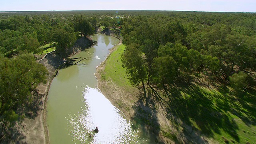
[[[142,84],[145,96],[146,84],[159,98],[158,89],[168,95],[181,81],[230,83],[236,90],[251,86],[255,18],[255,14],[223,13],[128,18],[122,26],[127,45],[122,61],[130,82]]]

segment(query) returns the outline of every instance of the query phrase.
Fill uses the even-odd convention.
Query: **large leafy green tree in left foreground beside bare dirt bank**
[[[20,116],[18,108],[32,100],[31,91],[46,82],[47,70],[32,54],[16,58],[0,56],[0,123],[8,126]]]

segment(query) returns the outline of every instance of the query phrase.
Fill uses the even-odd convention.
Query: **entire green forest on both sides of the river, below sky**
[[[2,133],[24,117],[36,86],[46,80],[46,68],[36,62],[42,46],[67,58],[67,48],[99,27],[122,38],[122,66],[146,106],[158,103],[169,120],[208,137],[224,131],[231,141],[219,139],[226,143],[256,140],[253,132],[241,137],[234,124],[238,117],[256,132],[256,14],[224,12],[0,12]]]

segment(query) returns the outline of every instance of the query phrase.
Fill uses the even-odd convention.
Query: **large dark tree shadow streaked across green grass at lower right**
[[[176,124],[179,123],[177,117],[185,123],[181,125],[184,133],[196,130],[213,137],[214,133],[220,134],[221,130],[224,130],[237,142],[240,141],[236,132],[238,125],[226,112],[229,104],[222,96],[198,86],[172,88],[170,92],[172,101],[168,103],[167,113],[176,117],[173,118]],[[192,127],[192,130],[189,130],[188,126]]]

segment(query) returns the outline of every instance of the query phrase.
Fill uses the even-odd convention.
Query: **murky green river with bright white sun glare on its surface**
[[[117,38],[95,34],[98,46],[73,58],[87,58],[59,70],[52,80],[47,100],[50,144],[135,144],[146,143],[124,114],[98,90],[96,66],[104,61]],[[98,127],[99,132],[92,130]]]

